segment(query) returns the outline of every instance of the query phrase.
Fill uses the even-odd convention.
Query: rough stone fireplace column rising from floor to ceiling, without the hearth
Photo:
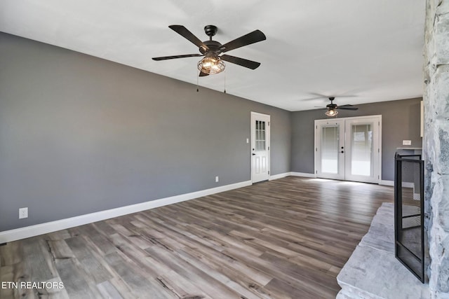
[[[424,29],[424,202],[431,298],[449,298],[449,1],[427,0]]]

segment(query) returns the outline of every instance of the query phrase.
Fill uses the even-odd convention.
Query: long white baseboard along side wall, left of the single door
[[[0,232],[0,244],[13,242],[18,239],[25,239],[27,237],[34,237],[37,235],[46,234],[48,232],[55,232],[58,230],[65,230],[67,228],[73,228],[75,226],[93,223],[96,221],[102,221],[109,218],[123,216],[126,214],[136,213],[138,211],[145,211],[147,209],[154,209],[156,207],[162,207],[168,204],[175,204],[176,202],[184,202],[185,200],[193,200],[194,198],[207,196],[215,193],[224,192],[236,188],[242,188],[250,186],[251,181],[242,181],[240,183],[232,183],[226,186],[220,186],[216,188],[210,188],[206,190],[200,190],[192,193],[186,193],[181,195],[175,195],[171,197],[161,198],[159,200],[152,200],[149,202],[142,202],[140,204],[131,204],[125,207],[119,207],[115,209],[108,209],[105,211],[98,211],[91,214],[85,214],[81,216],[75,216],[71,218],[65,218],[57,221],[51,221],[36,225],[27,226],[25,228],[16,228],[14,230],[5,230]]]

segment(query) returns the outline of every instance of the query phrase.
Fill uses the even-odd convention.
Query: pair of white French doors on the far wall
[[[382,116],[315,120],[315,171],[326,179],[379,183]]]

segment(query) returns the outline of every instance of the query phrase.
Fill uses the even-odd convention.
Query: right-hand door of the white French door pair
[[[379,182],[379,127],[378,117],[346,120],[345,179],[348,181]]]

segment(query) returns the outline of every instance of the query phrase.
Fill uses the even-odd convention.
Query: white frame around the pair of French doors
[[[349,118],[322,118],[322,119],[317,119],[314,120],[314,175],[315,177],[318,177],[318,140],[317,140],[317,121],[323,121],[323,120],[329,120],[330,122],[332,120],[344,120],[346,122],[346,120],[363,120],[363,118],[377,118],[379,123],[379,148],[378,148],[378,157],[379,160],[377,161],[377,179],[375,179],[374,183],[380,183],[382,181],[382,115],[373,115],[373,116],[353,116],[353,117],[349,117]],[[346,125],[344,125],[344,138],[345,138],[345,146],[344,146],[344,155],[346,155],[347,153],[347,148],[346,148],[346,138],[347,138],[347,134],[348,132],[346,132]]]

